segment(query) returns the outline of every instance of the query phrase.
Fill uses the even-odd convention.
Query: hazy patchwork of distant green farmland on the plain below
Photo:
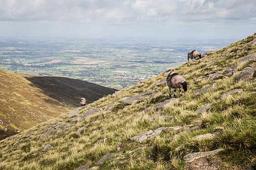
[[[63,76],[123,88],[186,62],[192,49],[204,53],[234,39],[0,38],[0,69]]]

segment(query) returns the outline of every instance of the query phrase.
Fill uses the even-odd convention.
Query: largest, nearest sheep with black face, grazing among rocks
[[[173,97],[176,97],[176,88],[180,89],[180,97],[182,96],[181,94],[181,87],[183,90],[186,92],[187,91],[187,83],[186,80],[181,76],[181,74],[177,72],[171,72],[168,74],[166,78],[166,83],[169,87],[169,96],[171,97],[171,88],[173,88],[174,95]]]

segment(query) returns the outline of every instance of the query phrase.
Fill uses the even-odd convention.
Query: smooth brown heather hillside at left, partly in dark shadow
[[[62,77],[41,77],[0,70],[0,140],[112,94],[115,89]]]

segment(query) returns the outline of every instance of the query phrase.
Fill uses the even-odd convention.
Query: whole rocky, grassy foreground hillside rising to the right
[[[255,168],[255,42],[256,34],[1,141],[0,170]],[[187,80],[183,97],[169,99],[171,71]]]

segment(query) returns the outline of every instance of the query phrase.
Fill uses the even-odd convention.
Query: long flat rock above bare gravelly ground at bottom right
[[[214,151],[193,152],[191,154],[184,156],[182,159],[185,160],[186,162],[192,162],[193,160],[201,158],[201,157],[216,155],[218,152],[223,151],[223,150],[224,149],[221,148],[221,149],[216,149]]]

